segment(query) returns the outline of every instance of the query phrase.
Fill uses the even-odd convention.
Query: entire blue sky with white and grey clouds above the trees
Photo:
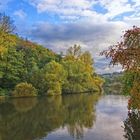
[[[57,53],[81,45],[97,73],[122,70],[99,54],[140,25],[140,0],[0,0],[0,12],[14,20],[20,36]]]

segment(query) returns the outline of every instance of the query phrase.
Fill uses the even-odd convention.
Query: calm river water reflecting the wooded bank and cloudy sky
[[[0,140],[125,140],[128,98],[78,94],[0,102]]]

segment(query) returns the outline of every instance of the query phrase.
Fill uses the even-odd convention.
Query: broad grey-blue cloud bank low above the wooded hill
[[[34,26],[29,36],[58,53],[66,51],[74,44],[80,44],[83,50],[90,51],[94,57],[98,73],[114,72],[120,71],[120,67],[118,69],[117,67],[107,68],[109,62],[99,54],[110,45],[115,44],[126,27],[127,25],[123,22],[106,22],[104,24],[88,21],[65,24],[41,22]]]

